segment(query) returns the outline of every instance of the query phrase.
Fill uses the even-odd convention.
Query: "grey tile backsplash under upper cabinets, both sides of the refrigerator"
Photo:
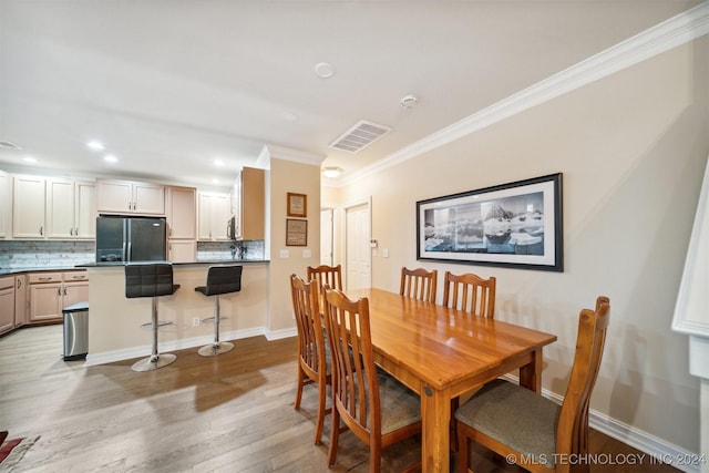
[[[264,259],[264,241],[237,241],[236,256],[246,260]],[[232,241],[198,241],[197,260],[232,258]],[[0,240],[0,269],[71,267],[93,263],[94,241]]]

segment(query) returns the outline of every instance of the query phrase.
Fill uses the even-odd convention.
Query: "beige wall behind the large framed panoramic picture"
[[[496,318],[558,336],[543,385],[559,395],[578,311],[609,296],[592,409],[697,452],[699,381],[670,322],[709,155],[708,63],[703,37],[328,193],[323,205],[371,196],[372,238],[390,254],[372,258],[377,287],[398,290],[401,266],[496,276]],[[417,261],[417,200],[556,172],[563,273]]]

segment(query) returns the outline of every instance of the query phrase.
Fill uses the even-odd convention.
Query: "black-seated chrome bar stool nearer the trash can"
[[[157,298],[171,296],[179,289],[179,285],[173,284],[173,265],[169,263],[127,264],[125,265],[125,297],[129,299],[138,297],[153,298],[153,315],[148,323],[153,331],[153,350],[148,358],[135,362],[133,371],[153,371],[166,367],[177,357],[172,353],[160,354],[157,352],[157,329],[171,325],[172,321],[157,319]]]

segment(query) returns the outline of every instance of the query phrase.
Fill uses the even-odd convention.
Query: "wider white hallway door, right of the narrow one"
[[[369,203],[346,209],[346,268],[347,289],[371,287],[371,239]]]

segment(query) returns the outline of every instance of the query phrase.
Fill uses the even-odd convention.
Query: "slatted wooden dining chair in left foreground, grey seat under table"
[[[350,300],[337,289],[325,289],[333,399],[328,462],[335,464],[339,435],[350,430],[369,445],[369,471],[380,472],[383,448],[421,432],[421,402],[376,368],[369,299]],[[411,469],[418,467],[420,462]]]

